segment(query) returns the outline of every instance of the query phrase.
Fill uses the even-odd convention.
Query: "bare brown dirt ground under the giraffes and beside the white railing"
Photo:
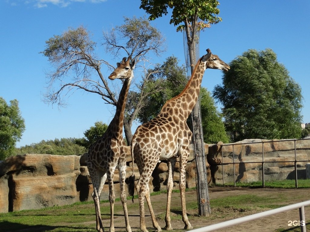
[[[254,188],[254,189],[249,189],[249,188],[229,188],[229,187],[209,187],[209,195],[210,195],[210,200],[216,199],[216,198],[221,198],[221,197],[226,197],[226,196],[232,196],[232,195],[241,195],[241,194],[252,194],[252,195],[258,195],[258,196],[264,196],[264,197],[272,197],[274,198],[274,195],[281,195],[281,197],[287,197],[288,202],[286,205],[289,204],[294,204],[294,203],[299,203],[303,202],[306,200],[310,200],[310,190],[309,189],[271,189],[271,188]],[[154,195],[151,196],[151,202],[153,205],[154,213],[155,215],[163,214],[165,215],[165,208],[166,208],[166,194],[160,194],[160,195]],[[177,204],[180,208],[180,197],[179,193],[173,193],[171,197],[171,217],[176,214],[181,214],[180,209],[179,210],[174,210],[173,205]],[[187,191],[186,192],[186,202],[187,204],[190,204],[191,202],[197,202],[197,194],[196,191]],[[212,201],[211,201],[212,202]],[[109,207],[108,203],[107,207]],[[130,207],[131,204],[136,205],[137,208],[135,207]],[[274,204],[283,204],[282,202],[274,202]],[[103,204],[101,204],[103,206]],[[131,205],[132,206],[132,205]],[[127,207],[128,207],[128,213],[129,213],[129,220],[130,220],[130,225],[132,231],[141,231],[139,229],[139,204],[138,204],[138,199],[135,199],[134,203],[131,203],[131,201],[127,202]],[[227,221],[231,220],[234,218],[239,218],[239,217],[244,217],[250,214],[254,213],[259,213],[262,212],[263,210],[239,210],[239,209],[234,209],[233,207],[228,207],[227,210],[230,210],[232,212],[228,213],[228,216],[223,216],[221,217],[221,213],[215,213],[211,205],[211,211],[212,213],[210,214],[210,217],[199,217],[197,216],[197,211],[193,212],[187,212],[189,216],[189,221],[192,224],[194,229],[213,225],[222,221]],[[264,210],[268,210],[264,209]],[[154,231],[154,228],[152,226],[152,221],[151,217],[149,214],[149,210],[147,207],[147,204],[145,202],[145,213],[146,213],[146,226],[148,230]],[[223,215],[226,214],[227,212],[223,212]],[[305,207],[305,219],[309,220],[310,219],[310,206]],[[246,222],[240,225],[232,226],[229,228],[225,229],[219,229],[216,230],[217,232],[230,232],[230,231],[250,231],[250,232],[255,232],[255,231],[274,231],[279,228],[284,228],[284,229],[289,229],[291,226],[288,226],[289,221],[299,221],[299,210],[291,210],[291,211],[286,211],[283,213],[279,213],[270,217],[264,217],[261,219],[256,219],[255,221],[250,221]],[[165,221],[164,219],[158,219],[157,220],[159,225],[162,227],[162,229],[165,227]],[[109,226],[109,220],[103,220],[104,224],[104,230],[108,231],[108,226]],[[115,212],[115,230],[116,231],[124,231],[124,217],[123,217],[123,212]],[[182,219],[180,220],[171,220],[171,224],[173,227],[173,231],[184,231],[184,223],[182,222]],[[163,230],[165,231],[165,230]]]

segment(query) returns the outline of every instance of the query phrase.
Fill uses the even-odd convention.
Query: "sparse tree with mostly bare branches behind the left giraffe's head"
[[[143,67],[138,63],[139,61],[147,62],[148,54],[153,53],[159,56],[165,51],[161,33],[152,27],[147,19],[135,16],[124,17],[124,24],[104,33],[103,41],[102,45],[106,52],[114,59],[123,56],[131,57],[132,60],[136,60],[136,67]],[[104,59],[98,58],[95,54],[96,45],[96,42],[91,41],[90,32],[82,26],[76,29],[69,28],[63,34],[55,35],[46,41],[46,49],[41,53],[49,59],[54,69],[47,74],[49,86],[44,95],[45,102],[64,106],[66,105],[65,96],[76,89],[82,89],[100,95],[107,104],[117,104],[115,96],[118,94],[111,90],[101,72],[102,64],[109,69],[114,69],[114,67]],[[141,109],[140,105],[143,105],[144,95],[148,94],[143,84],[148,81],[145,73],[144,71],[141,75],[142,84],[138,85],[140,94],[136,109],[131,112],[130,120],[125,119],[124,122],[128,143],[131,142],[132,122]]]

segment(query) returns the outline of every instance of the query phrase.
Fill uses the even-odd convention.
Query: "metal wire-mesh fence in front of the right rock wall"
[[[256,183],[310,187],[310,139],[223,144],[217,183]],[[280,187],[280,186],[279,186]]]

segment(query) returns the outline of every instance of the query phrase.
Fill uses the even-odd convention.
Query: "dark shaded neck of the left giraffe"
[[[116,104],[116,112],[115,112],[114,118],[110,122],[110,125],[107,129],[107,131],[113,130],[112,132],[116,134],[117,136],[123,134],[124,111],[126,107],[126,101],[127,101],[131,79],[132,78],[125,79],[124,81],[123,87],[121,89],[121,92],[119,94],[118,101]]]

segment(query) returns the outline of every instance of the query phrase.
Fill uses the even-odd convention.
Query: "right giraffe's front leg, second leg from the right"
[[[172,170],[174,170],[175,162],[176,162],[176,158],[173,157],[169,159],[167,163],[168,179],[167,179],[167,207],[166,207],[166,217],[165,217],[165,222],[166,222],[165,229],[166,230],[173,230],[171,226],[171,219],[170,219],[170,203],[171,203],[171,192],[173,189],[173,171]]]

